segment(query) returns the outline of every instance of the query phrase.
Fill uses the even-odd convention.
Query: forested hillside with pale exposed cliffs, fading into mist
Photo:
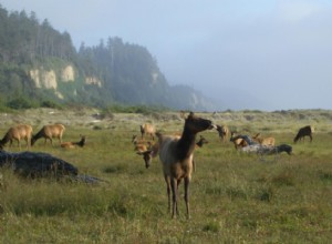
[[[148,50],[108,38],[75,50],[71,35],[60,33],[32,12],[8,12],[0,6],[0,104],[28,109],[44,104],[153,105],[214,110],[204,94],[172,87]]]

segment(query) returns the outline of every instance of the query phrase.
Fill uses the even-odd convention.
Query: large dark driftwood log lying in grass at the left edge
[[[76,176],[79,170],[72,164],[48,153],[0,151],[0,166],[8,166],[22,176]]]

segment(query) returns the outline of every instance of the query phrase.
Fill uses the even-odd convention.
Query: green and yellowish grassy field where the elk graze
[[[190,184],[191,218],[167,212],[158,159],[146,170],[131,143],[138,125],[152,122],[164,133],[181,131],[177,113],[112,114],[97,111],[34,110],[0,114],[0,136],[15,123],[61,122],[64,141],[87,138],[83,149],[64,150],[38,141],[48,152],[106,182],[20,179],[0,169],[0,243],[330,243],[332,240],[332,111],[199,113],[239,133],[272,135],[293,155],[260,157],[222,143],[216,131],[195,152]],[[313,142],[292,143],[299,128],[317,128]],[[22,150],[24,149],[24,142]],[[7,151],[20,151],[18,146]]]

